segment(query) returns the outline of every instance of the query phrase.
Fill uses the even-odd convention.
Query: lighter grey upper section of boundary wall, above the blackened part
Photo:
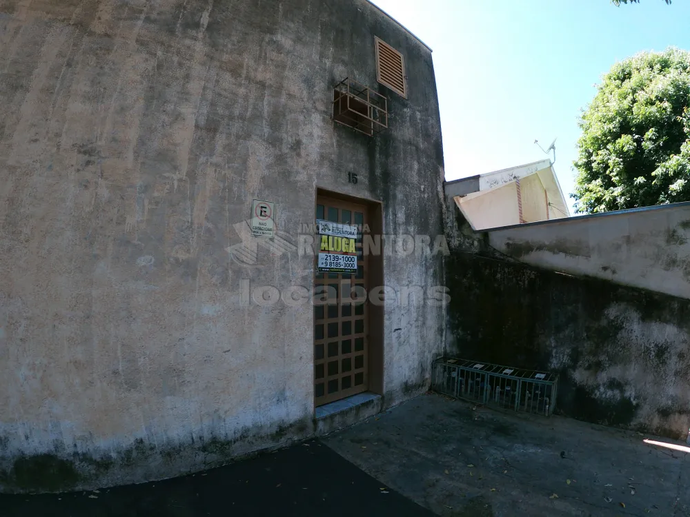
[[[690,298],[690,203],[488,232],[521,262]]]

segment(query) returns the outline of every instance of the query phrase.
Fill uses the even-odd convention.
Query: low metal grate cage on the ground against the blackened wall
[[[455,398],[549,416],[558,394],[558,375],[442,357],[434,362],[431,388]]]

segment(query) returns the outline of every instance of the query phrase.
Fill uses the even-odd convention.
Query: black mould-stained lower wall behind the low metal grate
[[[558,372],[557,409],[684,438],[690,424],[690,301],[455,251],[449,350]]]

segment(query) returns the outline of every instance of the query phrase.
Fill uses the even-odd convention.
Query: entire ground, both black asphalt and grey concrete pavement
[[[204,474],[97,494],[0,496],[0,517],[690,517],[686,454],[642,438],[427,395],[322,441]]]

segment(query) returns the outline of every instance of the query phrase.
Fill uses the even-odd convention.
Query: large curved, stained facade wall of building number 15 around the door
[[[374,35],[408,99],[376,84]],[[245,303],[241,282],[311,288],[313,261],[228,248],[253,198],[295,238],[317,187],[382,201],[386,234],[438,234],[431,52],[364,0],[4,0],[0,70],[0,489],[310,436],[311,306]],[[388,97],[376,139],[331,121],[346,76]],[[441,284],[440,259],[391,256],[384,278]],[[384,405],[425,389],[443,328],[442,308],[386,303]]]

